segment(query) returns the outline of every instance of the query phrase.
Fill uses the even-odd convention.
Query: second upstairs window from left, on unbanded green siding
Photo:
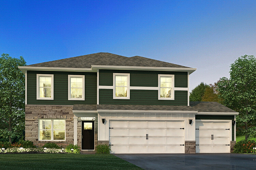
[[[68,100],[84,100],[84,75],[68,75]]]

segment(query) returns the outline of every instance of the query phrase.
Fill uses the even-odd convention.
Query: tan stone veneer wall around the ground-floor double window
[[[73,105],[26,105],[25,139],[39,143],[74,143]],[[39,141],[38,119],[66,119],[66,141]]]

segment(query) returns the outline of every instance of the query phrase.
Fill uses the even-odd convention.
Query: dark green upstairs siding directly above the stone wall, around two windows
[[[37,100],[37,74],[54,74],[54,100]],[[85,75],[85,100],[68,100],[68,75]],[[27,104],[97,104],[97,73],[27,71]]]

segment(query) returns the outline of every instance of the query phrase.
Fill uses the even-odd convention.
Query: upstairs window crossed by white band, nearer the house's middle
[[[130,99],[130,74],[113,73],[113,99]]]

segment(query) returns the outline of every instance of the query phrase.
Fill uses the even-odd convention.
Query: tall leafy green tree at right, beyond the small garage
[[[230,79],[221,78],[218,91],[223,104],[239,112],[237,127],[247,140],[256,137],[256,58],[241,56],[230,67]]]

